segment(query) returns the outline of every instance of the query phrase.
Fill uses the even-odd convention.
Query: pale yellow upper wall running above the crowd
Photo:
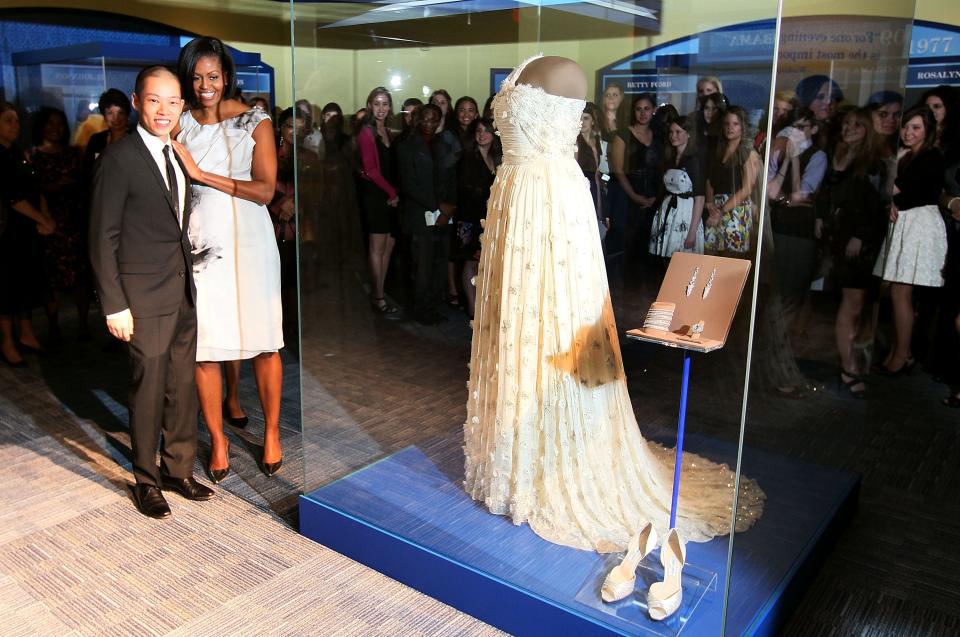
[[[280,105],[292,101],[294,89],[290,56],[288,8],[266,0],[226,0],[215,8],[198,0],[0,0],[0,7],[60,7],[108,11],[162,22],[187,31],[216,35],[231,46],[256,51],[276,70],[276,95]],[[362,105],[370,88],[390,86],[393,75],[401,76],[398,97],[420,96],[424,85],[445,88],[454,97],[473,95],[480,102],[487,96],[489,69],[511,67],[538,50],[578,60],[587,72],[593,94],[596,69],[635,51],[720,26],[769,19],[773,0],[667,0],[661,33],[651,37],[605,40],[545,41],[542,46],[497,44],[483,46],[370,49],[297,48],[296,90],[311,101],[338,101],[344,109]],[[784,16],[849,15],[909,17],[914,14],[907,0],[785,0]],[[918,19],[960,25],[960,2],[917,0]],[[309,30],[310,24],[298,21]],[[535,33],[531,24],[521,25],[525,39]],[[548,36],[549,34],[543,34]],[[320,42],[322,44],[322,42]]]

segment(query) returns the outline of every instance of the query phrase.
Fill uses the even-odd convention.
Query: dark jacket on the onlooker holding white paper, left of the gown
[[[400,192],[403,199],[403,231],[416,234],[427,229],[423,213],[436,210],[441,202],[457,201],[457,170],[453,150],[436,135],[434,150],[427,148],[423,135],[415,132],[397,151],[400,160]]]

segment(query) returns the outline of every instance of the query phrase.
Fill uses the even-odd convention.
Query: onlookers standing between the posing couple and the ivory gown
[[[358,227],[372,312],[435,325],[448,320],[441,308],[449,304],[472,316],[481,220],[502,159],[489,105],[482,112],[472,97],[454,102],[441,89],[397,113],[390,91],[375,87],[349,122],[339,104],[315,109],[306,100],[277,122],[290,135],[281,154],[284,144],[297,148],[303,261],[322,256],[315,243],[331,247],[330,231]],[[279,232],[283,219],[273,205],[271,213]],[[344,222],[351,216],[359,224]],[[388,280],[396,281],[390,295]]]

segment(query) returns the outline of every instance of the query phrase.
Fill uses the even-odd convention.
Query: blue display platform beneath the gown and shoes
[[[633,597],[603,604],[600,585],[620,556],[551,544],[488,513],[462,489],[461,445],[457,432],[407,447],[301,496],[301,533],[517,635],[719,634],[728,537],[687,545],[684,604],[654,622],[643,591],[662,574],[658,553],[643,562]],[[698,436],[688,436],[686,449],[728,463],[735,453]],[[736,537],[726,634],[772,635],[855,510],[860,479],[781,456],[747,457],[767,504]]]

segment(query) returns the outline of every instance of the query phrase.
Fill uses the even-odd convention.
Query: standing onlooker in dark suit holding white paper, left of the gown
[[[451,221],[457,200],[453,150],[436,134],[441,116],[439,107],[421,106],[418,130],[400,144],[398,151],[403,232],[412,240],[413,316],[424,325],[446,320],[439,307],[447,282]],[[427,213],[432,215],[429,220]]]

